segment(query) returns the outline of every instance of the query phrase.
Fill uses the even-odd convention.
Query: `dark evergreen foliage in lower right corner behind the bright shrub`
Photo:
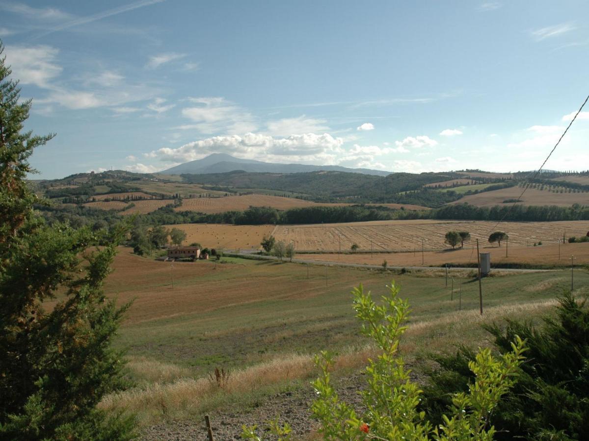
[[[589,308],[570,293],[559,299],[555,317],[544,326],[507,320],[504,327],[484,326],[499,351],[509,350],[515,335],[526,339],[527,361],[519,381],[491,417],[497,439],[589,439]],[[440,369],[424,387],[422,409],[442,422],[449,393],[467,390],[474,377],[468,363],[475,353],[460,348],[434,356]]]

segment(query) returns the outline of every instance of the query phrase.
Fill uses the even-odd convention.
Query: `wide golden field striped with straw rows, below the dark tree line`
[[[468,231],[472,240],[487,244],[489,234],[501,230],[509,235],[510,245],[555,242],[562,238],[584,236],[589,221],[497,222],[481,220],[376,220],[373,222],[332,223],[325,225],[277,225],[272,235],[276,240],[294,242],[299,250],[349,250],[356,243],[360,250],[444,249],[444,235],[451,230]]]

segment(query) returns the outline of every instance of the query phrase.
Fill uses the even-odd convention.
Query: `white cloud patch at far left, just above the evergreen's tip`
[[[47,45],[6,46],[6,64],[12,68],[12,77],[22,84],[49,88],[49,82],[61,74],[56,63],[58,49]]]

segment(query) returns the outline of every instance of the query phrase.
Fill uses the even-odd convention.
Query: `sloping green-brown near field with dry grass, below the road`
[[[478,283],[458,275],[452,293],[444,278],[418,273],[231,258],[172,266],[131,255],[127,248],[121,248],[114,269],[106,292],[121,303],[134,299],[115,345],[127,349],[127,375],[135,386],[105,397],[101,406],[133,410],[143,427],[193,425],[203,434],[198,439],[204,439],[203,413],[213,420],[236,415],[236,433],[245,418],[241,413],[267,400],[266,419],[273,417],[277,394],[310,389],[309,380],[317,375],[312,355],[321,349],[339,352],[336,377],[358,372],[373,356],[358,336],[350,307],[350,289],[359,283],[374,295],[383,294],[393,277],[401,286],[412,307],[401,348],[413,369],[419,369],[418,356],[430,350],[486,345],[481,322],[537,321],[570,283],[566,270],[484,279],[481,318]],[[575,280],[577,295],[589,292],[586,272],[578,271]],[[214,368],[231,372],[223,388],[207,380]],[[289,420],[288,414],[283,417]]]

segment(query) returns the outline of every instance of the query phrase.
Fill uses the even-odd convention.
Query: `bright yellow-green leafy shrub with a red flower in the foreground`
[[[370,292],[363,292],[362,285],[352,292],[353,308],[362,322],[362,333],[380,350],[378,358],[369,360],[366,368],[368,386],[361,392],[366,408],[363,415],[357,415],[351,406],[340,401],[333,389],[332,355],[322,352],[315,357],[321,375],[313,382],[317,399],[311,412],[319,420],[319,432],[328,440],[427,440],[430,436],[444,440],[491,440],[495,429],[488,424],[489,415],[515,383],[524,343],[516,337],[515,343],[511,343],[512,352],[498,359],[489,349],[481,350],[469,363],[476,379],[469,385],[468,393],[454,394],[451,415],[433,427],[425,413],[418,409],[421,390],[409,379],[403,359],[398,355],[399,339],[406,330],[403,322],[409,315],[408,303],[398,298],[398,292],[391,283],[389,295],[382,297],[380,305],[373,302]],[[242,437],[260,439],[255,427],[244,426]]]

